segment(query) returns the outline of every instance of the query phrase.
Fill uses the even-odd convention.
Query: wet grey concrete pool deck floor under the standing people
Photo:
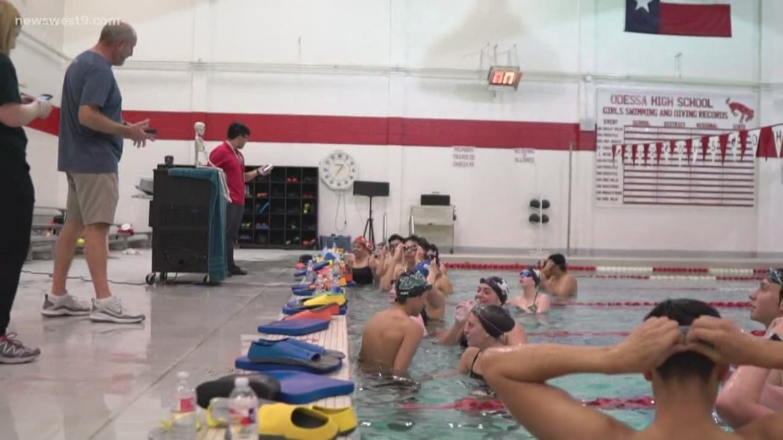
[[[240,335],[276,319],[290,298],[291,268],[301,254],[237,250],[247,276],[205,287],[179,283],[199,283],[203,275],[181,274],[178,283],[148,286],[150,250],[141,251],[115,251],[109,261],[110,279],[131,283],[112,284],[114,294],[146,314],[135,325],[44,318],[52,261],[25,265],[9,331],[41,348],[41,357],[0,365],[2,440],[146,439],[167,416],[176,373],[188,371],[193,386],[231,373],[242,354]],[[89,277],[83,258],[74,260],[71,276]],[[92,283],[70,280],[68,286],[71,294],[92,298]]]

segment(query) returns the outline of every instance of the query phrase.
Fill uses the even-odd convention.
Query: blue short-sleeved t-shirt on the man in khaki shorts
[[[117,172],[123,138],[82,125],[79,107],[84,105],[98,106],[106,117],[122,123],[122,95],[111,63],[92,50],[77,56],[65,72],[57,169],[76,173]]]

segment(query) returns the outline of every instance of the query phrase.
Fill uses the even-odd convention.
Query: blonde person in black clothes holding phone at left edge
[[[19,289],[22,266],[30,248],[35,189],[27,164],[27,135],[23,126],[52,113],[52,104],[21,96],[16,67],[10,59],[21,31],[20,13],[0,2],[0,364],[31,362],[41,355],[8,332],[11,308]]]

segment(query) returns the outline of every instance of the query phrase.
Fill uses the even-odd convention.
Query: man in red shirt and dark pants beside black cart
[[[226,263],[230,275],[247,275],[246,270],[237,267],[234,263],[234,242],[239,236],[244,213],[245,182],[259,175],[269,174],[263,172],[264,167],[244,171],[244,156],[241,150],[248,138],[250,138],[250,129],[244,124],[234,122],[229,126],[229,140],[217,146],[209,155],[210,162],[226,173],[226,182],[231,196],[231,203],[226,206]]]

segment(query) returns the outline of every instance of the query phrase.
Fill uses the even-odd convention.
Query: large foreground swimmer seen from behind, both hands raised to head
[[[727,432],[716,424],[713,407],[729,365],[781,369],[781,347],[742,332],[702,301],[682,299],[656,305],[614,346],[525,344],[490,348],[480,359],[485,381],[541,440],[777,440],[783,438],[783,413]],[[655,420],[637,431],[547,384],[576,373],[644,374],[652,386]]]

